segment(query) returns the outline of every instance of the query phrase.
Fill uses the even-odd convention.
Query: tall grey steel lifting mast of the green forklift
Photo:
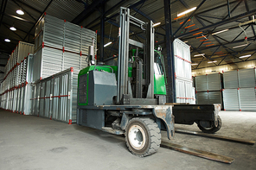
[[[130,27],[135,26],[145,32],[144,43],[130,39]],[[116,104],[131,104],[144,99],[153,104],[154,98],[154,28],[153,22],[143,22],[130,15],[130,9],[120,8],[118,46],[118,82]],[[134,60],[136,73],[128,77],[129,47],[144,49],[144,58]],[[142,61],[143,60],[143,61]],[[134,100],[133,98],[137,98]],[[151,100],[145,100],[145,98]],[[141,103],[141,102],[139,102]]]

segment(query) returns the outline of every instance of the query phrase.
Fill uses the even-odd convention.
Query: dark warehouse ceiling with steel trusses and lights
[[[120,6],[130,8],[132,16],[145,22],[161,22],[156,27],[155,45],[161,45],[163,52],[166,47],[163,0],[0,0],[0,4],[0,60],[8,58],[18,41],[34,43],[35,24],[45,12],[98,30],[98,43],[100,19],[105,18],[104,44],[110,41],[112,44],[104,48],[104,59],[112,57],[118,54]],[[193,7],[197,8],[177,16]],[[24,15],[18,15],[17,9],[22,9]],[[170,0],[170,13],[174,37],[191,47],[192,69],[256,60],[255,0]],[[15,27],[16,31],[10,27]],[[142,30],[131,30],[133,38],[144,41]],[[10,42],[5,39],[10,39]],[[198,54],[202,55],[195,56]]]

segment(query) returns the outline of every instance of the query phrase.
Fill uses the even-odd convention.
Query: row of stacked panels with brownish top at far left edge
[[[24,94],[21,89],[28,85],[26,81],[28,54],[34,53],[34,45],[20,41],[16,49],[10,54],[10,59],[4,70],[4,79],[1,84],[1,108],[12,112],[22,113],[20,108],[22,104],[20,99]],[[33,57],[33,56],[31,56]],[[29,57],[29,58],[31,58]]]

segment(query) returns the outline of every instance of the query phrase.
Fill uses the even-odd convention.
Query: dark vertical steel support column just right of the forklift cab
[[[164,20],[166,34],[166,51],[167,51],[167,77],[169,87],[169,103],[176,103],[176,82],[175,82],[175,60],[173,50],[173,33],[171,28],[170,16],[170,0],[163,0],[164,5]]]

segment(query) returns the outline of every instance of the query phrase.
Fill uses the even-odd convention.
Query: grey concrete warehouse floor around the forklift
[[[218,135],[256,141],[256,112],[221,111]],[[192,126],[176,129],[200,131]],[[166,134],[163,132],[163,139]],[[167,148],[138,158],[128,152],[124,137],[97,129],[68,125],[37,116],[0,110],[0,169],[256,169],[256,146],[176,134],[172,141],[233,157],[224,164]]]

